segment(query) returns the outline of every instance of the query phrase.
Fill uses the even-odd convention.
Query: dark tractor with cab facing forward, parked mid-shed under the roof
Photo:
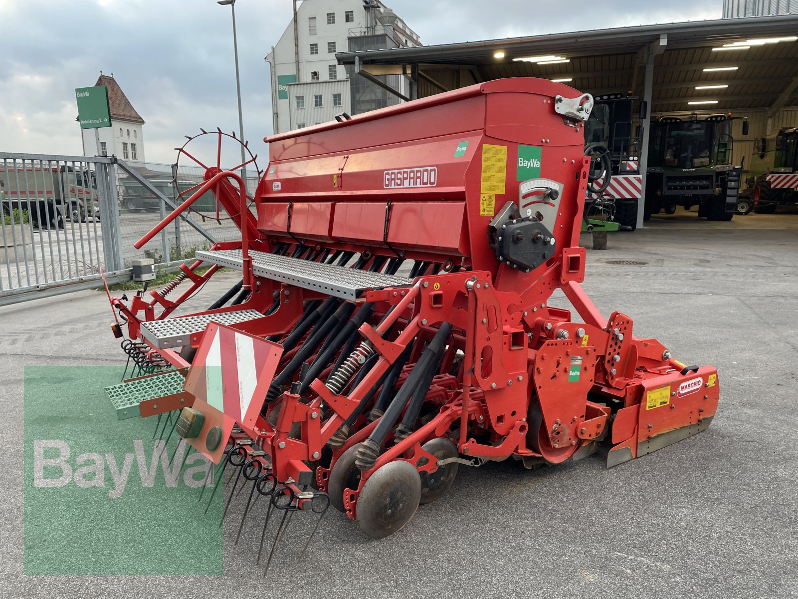
[[[644,220],[652,214],[689,210],[698,216],[732,220],[742,167],[732,165],[731,117],[662,117],[651,122]],[[748,121],[743,121],[743,135]]]

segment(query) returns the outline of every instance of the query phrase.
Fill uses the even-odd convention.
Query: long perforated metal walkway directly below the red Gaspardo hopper
[[[413,285],[413,280],[405,276],[383,275],[381,272],[321,264],[267,252],[249,253],[252,259],[252,272],[257,276],[324,292],[344,300],[358,300],[363,292],[372,289],[403,288]],[[197,252],[196,257],[211,264],[238,270],[243,268],[239,249]]]

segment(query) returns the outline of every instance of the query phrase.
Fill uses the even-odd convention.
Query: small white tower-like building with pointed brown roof
[[[144,119],[124,95],[113,73],[100,74],[94,85],[108,88],[108,103],[111,109],[111,126],[97,129],[100,133],[100,155],[112,154],[126,161],[144,162]],[[81,129],[83,135],[83,155],[97,155],[95,129]]]

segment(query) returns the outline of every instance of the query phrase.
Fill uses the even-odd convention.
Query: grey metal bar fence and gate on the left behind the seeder
[[[133,243],[203,180],[203,169],[116,157],[0,153],[0,305],[130,278],[135,258],[175,265],[238,228],[212,193],[141,250]],[[247,180],[252,195],[257,180]],[[217,220],[217,216],[219,219]]]

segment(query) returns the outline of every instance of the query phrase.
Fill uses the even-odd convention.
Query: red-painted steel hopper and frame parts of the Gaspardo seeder
[[[579,228],[589,160],[583,157],[581,123],[555,110],[558,97],[579,97],[579,92],[539,79],[490,81],[275,135],[267,138],[271,162],[255,194],[257,219],[246,208],[243,182],[234,173],[209,169],[192,199],[136,244],[140,248],[193,199],[214,188],[219,203],[235,215],[243,240],[212,249],[241,248],[245,288],[252,289],[246,303],[219,311],[251,307],[264,313],[273,292],[279,293],[277,311],[233,327],[259,338],[286,334],[302,316],[304,303],[326,296],[253,275],[248,250],[311,245],[442,265],[437,274],[418,276],[412,288],[366,296],[377,307],[359,331],[379,359],[356,387],[336,395],[320,376],[309,396],[283,392],[274,404],[281,407],[274,422],[261,415],[239,422],[243,432],[233,434],[233,440],[254,439],[255,445],[245,449],[263,449],[264,462],[270,462],[279,481],[298,491],[296,481],[314,469],[324,489],[336,460],[368,437],[376,422],[358,419],[332,462],[318,466],[326,442],[413,337],[429,337],[444,322],[456,331],[452,349],[464,352],[464,366],[456,377],[435,379],[428,401],[438,406],[437,415],[385,446],[375,466],[363,472],[359,489],[396,459],[422,472],[436,470],[437,459],[421,446],[437,437],[455,439],[460,454],[470,458],[514,456],[550,463],[579,457],[580,450],[607,438],[612,444],[608,463],[614,465],[709,425],[717,407],[717,371],[685,367],[655,339],[634,337],[630,317],[615,311],[606,319],[580,286],[585,251],[579,248]],[[555,221],[546,223],[557,240],[555,253],[531,272],[497,260],[488,236],[488,225],[506,202],[523,204],[519,146],[539,149],[539,177],[563,186]],[[500,169],[496,153],[504,161]],[[174,302],[152,292],[152,301],[136,297],[128,308],[113,298],[128,319],[131,337],[139,335],[141,320],[165,318],[213,274],[211,268],[205,276],[195,275],[198,265],[183,268],[192,284]],[[562,289],[581,322],[548,303],[556,289]],[[158,304],[163,311],[156,316]],[[377,326],[377,316],[392,305],[391,315]],[[393,323],[401,332],[383,339]],[[201,347],[203,334],[191,343]],[[177,367],[187,365],[173,351],[161,353]],[[282,356],[283,364],[290,355]],[[255,393],[265,396],[269,383],[260,380]],[[298,435],[292,433],[297,425]],[[195,445],[199,450],[202,440]],[[346,490],[350,518],[358,494],[358,489]]]

